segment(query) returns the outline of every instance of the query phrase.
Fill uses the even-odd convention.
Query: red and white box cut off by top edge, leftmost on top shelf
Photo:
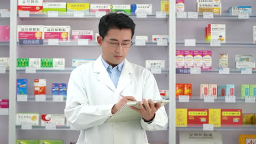
[[[37,1],[24,1],[18,0],[18,11],[33,11],[36,13],[40,13],[43,10],[43,0]]]

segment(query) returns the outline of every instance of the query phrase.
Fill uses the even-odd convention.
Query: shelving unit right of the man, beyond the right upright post
[[[255,103],[246,103],[241,99],[241,84],[255,84],[255,70],[252,75],[242,75],[241,70],[235,67],[235,55],[253,55],[256,56],[256,44],[253,44],[253,26],[256,22],[256,11],[253,9],[252,16],[247,20],[238,19],[238,16],[230,16],[227,10],[237,5],[249,5],[255,7],[254,1],[241,2],[238,0],[222,1],[222,16],[214,16],[214,19],[203,19],[202,15],[198,19],[176,19],[176,47],[177,50],[211,50],[212,51],[212,70],[201,71],[201,74],[176,74],[177,83],[192,83],[193,97],[188,103],[179,102],[176,99],[176,108],[185,109],[242,109],[242,113],[256,113]],[[185,11],[196,11],[196,1],[185,1]],[[208,24],[225,24],[226,25],[226,43],[220,47],[211,47],[206,43],[205,27]],[[195,39],[196,46],[185,46],[184,39]],[[218,55],[219,53],[228,53],[230,74],[219,74]],[[235,84],[235,103],[226,103],[224,98],[214,100],[214,103],[205,103],[200,99],[200,84]],[[181,131],[202,131],[200,127],[177,127],[177,143]],[[223,143],[238,143],[240,134],[255,134],[255,125],[229,125],[229,127],[214,127],[214,130],[220,131]]]

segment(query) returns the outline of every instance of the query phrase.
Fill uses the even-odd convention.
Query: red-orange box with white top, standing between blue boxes
[[[34,79],[34,96],[46,95],[46,79]]]

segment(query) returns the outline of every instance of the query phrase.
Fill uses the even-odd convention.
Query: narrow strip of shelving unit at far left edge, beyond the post
[[[10,9],[10,1],[0,0],[0,9]],[[10,16],[7,13],[0,14],[0,26],[10,26]],[[9,57],[9,41],[0,40],[0,57]],[[0,99],[9,99],[9,73],[0,72]],[[8,143],[8,115],[9,109],[0,108],[0,140]]]

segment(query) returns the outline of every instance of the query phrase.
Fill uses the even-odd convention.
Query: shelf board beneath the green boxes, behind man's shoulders
[[[62,70],[55,70],[55,69],[40,69],[36,70],[36,73],[26,73],[24,69],[17,69],[18,74],[71,74],[73,68],[65,68]],[[168,69],[162,69],[161,74],[169,74]]]

